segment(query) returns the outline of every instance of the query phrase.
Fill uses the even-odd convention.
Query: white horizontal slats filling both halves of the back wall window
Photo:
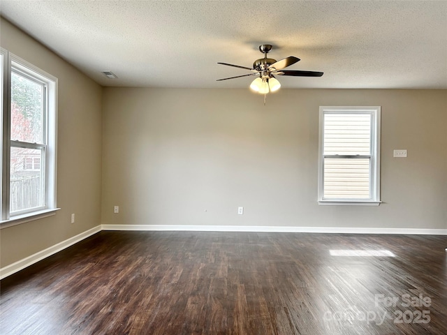
[[[323,198],[371,198],[371,113],[325,113]]]

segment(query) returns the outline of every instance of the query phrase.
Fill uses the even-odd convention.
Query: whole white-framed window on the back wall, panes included
[[[320,107],[319,204],[380,203],[381,107]]]

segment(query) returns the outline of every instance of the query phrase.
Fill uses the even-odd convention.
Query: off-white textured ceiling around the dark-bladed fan
[[[447,1],[21,1],[1,15],[104,86],[216,82],[261,58],[301,59],[285,88],[447,89]],[[119,79],[100,73],[111,70]]]

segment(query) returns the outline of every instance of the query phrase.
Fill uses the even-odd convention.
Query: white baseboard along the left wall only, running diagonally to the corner
[[[69,239],[61,241],[58,244],[54,244],[54,246],[50,246],[50,248],[46,248],[43,251],[39,251],[34,255],[28,256],[27,258],[19,260],[13,264],[7,265],[6,267],[2,267],[0,269],[0,279],[10,276],[11,274],[15,274],[15,272],[18,272],[24,269],[25,267],[29,267],[30,265],[33,265],[39,260],[43,260],[44,258],[54,255],[54,253],[64,250],[65,248],[68,248],[69,246],[72,246],[73,244],[82,241],[82,239],[87,239],[87,237],[90,237],[91,235],[96,234],[97,232],[101,232],[101,225],[91,228],[85,232],[81,232],[76,236],[70,237]]]

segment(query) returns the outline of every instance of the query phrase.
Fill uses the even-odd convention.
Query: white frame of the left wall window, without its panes
[[[53,75],[1,49],[3,58],[3,80],[1,87],[3,114],[1,127],[1,221],[0,229],[54,215],[57,211],[57,87],[58,80]],[[24,75],[45,87],[43,92],[43,140],[42,143],[22,142],[10,139],[11,73]],[[45,174],[42,186],[41,207],[10,212],[10,149],[23,147],[41,150],[41,170]],[[34,162],[33,162],[34,167]]]

